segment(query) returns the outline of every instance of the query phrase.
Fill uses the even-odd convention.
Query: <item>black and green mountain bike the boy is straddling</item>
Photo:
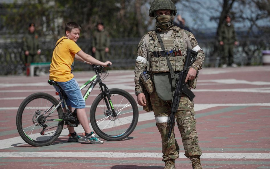
[[[101,93],[95,98],[90,109],[90,123],[95,133],[107,141],[119,141],[128,137],[138,122],[138,107],[134,98],[122,89],[108,89],[102,83],[109,73],[103,76],[103,66],[94,66],[95,75],[80,89],[90,84],[83,95],[86,100],[97,83]],[[106,76],[107,75],[107,76]],[[49,80],[50,85],[57,82]],[[56,92],[56,95],[62,94]],[[17,130],[22,139],[32,146],[47,146],[60,136],[63,126],[77,127],[79,121],[76,109],[71,112],[66,105],[65,97],[56,99],[48,93],[33,93],[26,97],[19,106],[16,116]],[[67,113],[63,113],[64,103]]]

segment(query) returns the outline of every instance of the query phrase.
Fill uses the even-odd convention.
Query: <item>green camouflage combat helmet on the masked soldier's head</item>
[[[169,9],[173,11],[173,16],[177,13],[177,9],[171,0],[154,0],[149,9],[149,16],[154,17],[154,12],[159,9]]]

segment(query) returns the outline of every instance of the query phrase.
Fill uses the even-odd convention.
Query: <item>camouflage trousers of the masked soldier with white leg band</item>
[[[175,139],[174,125],[171,137],[168,140],[170,123],[167,123],[171,115],[171,101],[163,101],[159,99],[156,91],[150,94],[150,100],[153,107],[156,125],[161,134],[163,160],[175,160],[179,157],[179,146]],[[199,146],[198,136],[196,131],[196,119],[194,117],[194,104],[186,96],[181,97],[179,107],[175,113],[175,119],[178,129],[181,133],[185,156],[200,156],[202,150]]]

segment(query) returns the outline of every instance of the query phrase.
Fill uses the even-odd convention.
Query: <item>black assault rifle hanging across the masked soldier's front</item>
[[[171,137],[171,131],[173,129],[173,122],[175,121],[175,113],[178,109],[179,102],[181,99],[182,94],[184,93],[189,97],[190,100],[193,100],[195,95],[191,90],[189,90],[185,85],[185,79],[187,77],[187,73],[189,72],[190,66],[195,62],[197,58],[198,52],[195,52],[194,50],[187,50],[187,57],[185,60],[184,68],[179,73],[176,74],[176,87],[175,92],[173,94],[173,101],[171,103],[171,117],[168,120],[168,123],[171,123],[169,133],[168,133],[168,140]]]

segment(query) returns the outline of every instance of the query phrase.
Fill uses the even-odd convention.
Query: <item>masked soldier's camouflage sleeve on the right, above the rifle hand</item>
[[[194,68],[195,70],[198,71],[202,69],[202,66],[203,66],[203,62],[205,58],[204,52],[201,49],[201,47],[198,45],[198,42],[195,39],[194,35],[187,30],[183,30],[183,31],[187,34],[187,37],[189,38],[189,40],[187,41],[187,48],[198,52],[196,61],[191,65],[191,68]]]

